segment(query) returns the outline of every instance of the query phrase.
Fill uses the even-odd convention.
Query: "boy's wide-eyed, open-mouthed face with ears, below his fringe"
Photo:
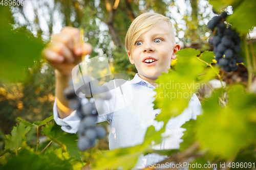
[[[174,42],[167,31],[166,22],[158,23],[137,39],[132,54],[127,52],[140,77],[157,79],[162,72],[168,72],[170,62],[175,59],[174,54],[180,50],[180,45],[173,45]]]

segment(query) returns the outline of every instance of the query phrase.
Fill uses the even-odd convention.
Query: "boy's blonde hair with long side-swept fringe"
[[[166,16],[163,16],[158,13],[146,12],[137,16],[133,22],[131,23],[130,28],[128,29],[125,36],[125,48],[126,51],[130,51],[132,53],[133,45],[136,40],[141,36],[144,32],[150,30],[158,23],[165,21],[168,23],[169,28],[167,33],[170,33],[173,44],[176,43],[173,23],[170,22],[170,19]]]

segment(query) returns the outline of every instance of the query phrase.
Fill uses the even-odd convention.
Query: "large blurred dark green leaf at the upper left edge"
[[[9,15],[8,6],[1,5],[0,8],[1,16]],[[0,18],[0,78],[20,82],[26,78],[24,68],[39,59],[44,43],[32,33],[12,31],[11,24],[3,18]]]

